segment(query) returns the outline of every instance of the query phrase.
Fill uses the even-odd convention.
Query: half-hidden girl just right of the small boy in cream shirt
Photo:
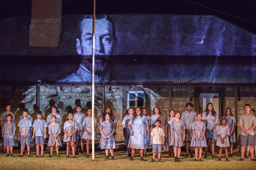
[[[165,133],[166,133],[166,146],[169,147],[169,157],[172,157],[172,147],[174,145],[174,142],[170,138],[170,124],[172,123],[173,120],[176,120],[174,109],[170,110],[169,118],[166,118],[166,121],[164,124]],[[173,153],[173,157],[174,157],[174,153]]]

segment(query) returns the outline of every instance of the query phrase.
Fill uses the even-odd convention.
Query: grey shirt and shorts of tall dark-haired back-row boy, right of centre
[[[181,120],[184,121],[187,130],[192,130],[192,123],[194,121],[196,121],[196,115],[197,114],[195,111],[191,111],[190,113],[189,113],[189,111],[185,111],[181,115]],[[185,140],[186,141],[191,141],[192,136],[193,136],[193,132],[189,134],[185,131]]]

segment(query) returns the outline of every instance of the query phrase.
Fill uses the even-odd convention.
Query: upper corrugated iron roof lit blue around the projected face
[[[111,15],[113,55],[256,55],[256,35],[214,16]],[[29,47],[29,16],[0,22],[0,55],[77,55],[83,16],[63,16],[59,47]],[[96,32],[97,34],[97,32]]]

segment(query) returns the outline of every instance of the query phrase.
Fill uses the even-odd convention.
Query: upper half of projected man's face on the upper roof
[[[81,37],[76,38],[76,51],[80,55],[92,55],[92,19],[81,22]],[[107,19],[96,19],[95,55],[111,55],[114,47],[113,25]]]

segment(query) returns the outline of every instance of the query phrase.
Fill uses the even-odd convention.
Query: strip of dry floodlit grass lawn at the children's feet
[[[72,157],[67,159],[66,152],[60,152],[60,158],[49,158],[49,151],[45,151],[45,157],[35,157],[36,153],[31,152],[32,157],[17,157],[19,151],[14,151],[14,157],[5,157],[6,154],[0,154],[0,169],[256,169],[256,162],[252,162],[251,158],[245,159],[243,162],[240,159],[239,152],[233,158],[229,158],[231,162],[226,162],[222,157],[222,161],[216,161],[216,158],[208,156],[207,159],[202,159],[203,162],[193,162],[192,158],[184,158],[184,153],[181,155],[181,162],[175,163],[174,158],[169,158],[169,154],[163,153],[162,160],[164,162],[151,162],[152,153],[148,152],[148,157],[145,162],[140,161],[139,153],[134,156],[134,160],[128,159],[125,151],[114,153],[116,160],[104,160],[105,155],[102,152],[95,153],[95,160],[92,160],[92,155],[89,159],[86,156],[78,155],[76,159]],[[72,154],[69,154],[72,156]],[[204,155],[202,156],[204,157]],[[157,159],[156,159],[157,160]]]

